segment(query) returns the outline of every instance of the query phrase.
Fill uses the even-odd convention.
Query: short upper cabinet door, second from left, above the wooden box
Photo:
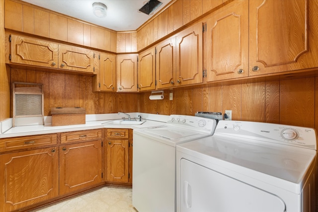
[[[94,52],[75,46],[59,45],[59,69],[94,72]]]

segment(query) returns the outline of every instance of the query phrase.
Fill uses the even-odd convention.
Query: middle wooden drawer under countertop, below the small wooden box
[[[88,141],[94,139],[101,139],[101,129],[85,130],[61,134],[61,143],[69,143],[75,141]]]

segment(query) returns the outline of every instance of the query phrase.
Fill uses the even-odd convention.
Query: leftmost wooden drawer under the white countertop
[[[56,134],[47,134],[39,136],[26,136],[0,139],[0,151],[10,151],[23,148],[32,148],[38,146],[48,146],[57,143]]]

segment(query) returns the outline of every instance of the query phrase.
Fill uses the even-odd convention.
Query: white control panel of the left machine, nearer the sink
[[[191,128],[192,130],[206,131],[211,134],[214,133],[217,125],[215,119],[186,115],[170,115],[167,124],[177,127]]]

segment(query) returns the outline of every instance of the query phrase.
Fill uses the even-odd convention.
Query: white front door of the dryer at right
[[[285,212],[282,199],[186,160],[180,161],[181,212]]]

